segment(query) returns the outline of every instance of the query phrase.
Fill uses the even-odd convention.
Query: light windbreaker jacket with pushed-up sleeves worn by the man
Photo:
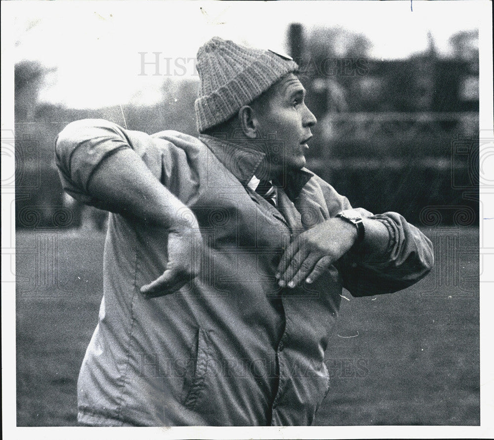
[[[79,421],[92,425],[309,425],[329,389],[324,363],[342,287],[388,293],[424,277],[430,241],[397,213],[374,216],[388,250],[352,252],[313,284],[278,286],[283,248],[300,232],[350,208],[303,169],[278,189],[278,209],[247,183],[263,154],[209,136],[148,135],[105,120],[69,124],[56,142],[63,187],[87,192],[98,165],[132,148],[195,213],[206,252],[200,275],[174,294],[139,288],[165,270],[166,231],[110,214],[98,325],[78,381]]]

